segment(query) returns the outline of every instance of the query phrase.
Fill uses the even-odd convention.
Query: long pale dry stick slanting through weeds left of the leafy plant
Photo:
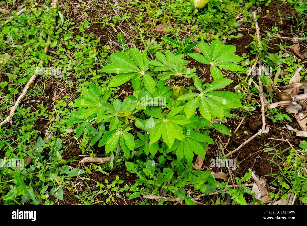
[[[58,0],[53,0],[52,2],[53,2],[53,6],[54,6],[54,7],[57,7]],[[19,12],[20,12],[20,11],[19,11]],[[18,13],[19,13],[19,12],[18,12]],[[17,14],[18,14],[18,13],[17,13]],[[53,18],[53,19],[56,21],[56,17]],[[53,27],[52,32],[54,31],[54,29],[55,29],[55,26]],[[51,39],[51,37],[50,37],[50,35],[48,35],[48,38],[47,38],[46,43],[50,42],[50,39]],[[49,46],[50,46],[50,45],[47,45],[47,46],[45,47],[45,52],[44,52],[45,54],[47,54],[48,49],[49,49]],[[36,78],[36,76],[37,76],[37,73],[38,73],[38,70],[39,70],[40,66],[43,65],[43,64],[44,64],[44,61],[39,62],[38,66],[37,66],[37,68],[36,68],[36,70],[35,70],[35,73],[32,75],[32,77],[31,77],[30,80],[28,81],[27,85],[25,85],[25,88],[23,89],[22,93],[21,93],[20,96],[18,97],[18,99],[17,99],[17,101],[16,101],[14,107],[10,110],[10,114],[6,117],[5,120],[3,120],[3,121],[1,122],[1,126],[5,125],[5,124],[8,123],[8,122],[13,123],[12,117],[14,116],[16,107],[19,106],[20,102],[22,101],[22,99],[23,99],[23,98],[25,97],[25,95],[27,94],[27,91],[28,91],[29,87],[32,85],[33,81],[35,80],[35,78]]]

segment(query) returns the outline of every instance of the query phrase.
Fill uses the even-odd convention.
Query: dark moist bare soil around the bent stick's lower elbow
[[[290,133],[287,132],[287,130],[283,131],[283,129],[279,129],[283,127],[282,124],[279,123],[273,123],[271,121],[266,122],[269,125],[269,133],[264,134],[262,136],[258,136],[254,138],[252,141],[244,145],[237,153],[234,153],[232,155],[232,158],[236,159],[237,163],[239,163],[239,166],[237,169],[233,170],[233,174],[235,176],[243,176],[245,173],[249,172],[248,169],[252,168],[256,175],[258,176],[266,176],[270,174],[277,174],[280,173],[278,170],[278,166],[274,163],[270,163],[268,159],[272,159],[273,157],[273,151],[270,152],[264,152],[260,151],[262,149],[265,149],[266,146],[275,146],[277,150],[279,150],[279,155],[281,157],[288,156],[289,153],[289,145],[286,142],[282,141],[274,141],[270,140],[269,138],[275,138],[275,139],[289,139],[291,141],[291,144],[295,148],[299,148],[299,140],[295,136],[290,136]],[[233,132],[237,126],[239,125],[239,120],[230,119],[225,123],[225,125]],[[259,129],[262,127],[262,121],[261,121],[261,115],[255,115],[250,116],[246,118],[239,128],[239,130],[236,132],[236,134],[232,135],[231,139],[229,140],[229,144],[227,145],[227,150],[232,151],[236,149],[239,145],[241,145],[244,141],[252,137],[255,133],[258,132]],[[225,145],[228,141],[228,136],[216,133],[216,131],[211,132],[210,136],[212,138],[218,138],[220,137],[222,143]],[[218,145],[220,145],[219,139],[215,139],[215,144],[210,146],[210,150],[206,153],[206,159],[204,160],[203,168],[209,169],[210,168],[210,160],[216,158],[216,153],[219,153]],[[222,147],[224,147],[222,145]],[[283,150],[286,150],[285,152],[281,153]],[[227,154],[227,150],[224,150],[224,153]],[[258,153],[256,153],[258,152]],[[255,153],[255,154],[253,154]],[[253,155],[252,155],[253,154]],[[251,156],[252,155],[252,156]],[[231,158],[231,157],[230,157]],[[273,161],[280,163],[280,159],[278,157],[274,157]],[[255,162],[255,163],[254,163]],[[226,172],[225,168],[212,168],[216,172],[220,172],[221,170]],[[268,179],[268,182],[272,182],[274,178],[272,176],[266,176]]]

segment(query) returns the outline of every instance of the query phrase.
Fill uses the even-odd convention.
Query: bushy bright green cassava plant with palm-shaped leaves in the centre
[[[76,136],[84,133],[90,137],[90,145],[98,142],[98,147],[104,146],[111,156],[114,153],[118,156],[122,150],[126,160],[145,155],[152,160],[158,158],[161,163],[171,153],[177,156],[177,161],[191,165],[194,154],[204,158],[204,149],[213,144],[209,128],[231,136],[227,126],[211,121],[216,117],[224,121],[231,117],[230,109],[242,106],[235,93],[220,91],[232,80],[223,78],[219,68],[243,70],[236,64],[243,58],[233,55],[235,46],[219,40],[214,40],[211,46],[200,43],[199,49],[202,54],[189,56],[208,65],[206,74],[210,69],[214,79],[211,84],[203,83],[204,77],[199,78],[195,68],[187,67],[189,61],[184,54],[157,52],[155,60],[133,48],[127,53],[112,54],[111,63],[102,69],[114,75],[109,87],[119,87],[131,80],[134,92],[123,101],[114,100],[111,92],[101,97],[98,87],[89,83],[72,105],[77,110],[68,121],[71,126],[79,124]],[[191,77],[194,87],[180,86],[183,79]]]

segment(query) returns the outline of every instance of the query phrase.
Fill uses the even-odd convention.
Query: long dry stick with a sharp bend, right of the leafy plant
[[[257,19],[256,19],[256,14],[257,14],[257,11],[254,11],[253,12],[253,16],[254,16],[254,20],[255,20],[257,41],[258,41],[258,44],[260,45],[261,44],[261,42],[260,42],[260,29],[259,29],[258,22],[257,22]],[[259,75],[260,75],[261,74],[260,59],[258,61],[258,64],[259,64]],[[247,141],[243,142],[243,144],[240,145],[238,148],[236,148],[235,150],[233,150],[233,151],[229,152],[228,154],[224,155],[223,158],[228,157],[228,156],[232,155],[233,153],[239,151],[244,145],[246,145],[248,142],[253,140],[258,135],[260,135],[262,133],[267,133],[267,131],[266,131],[265,114],[264,114],[264,106],[265,106],[265,104],[263,102],[263,91],[262,91],[263,87],[262,87],[262,82],[260,80],[260,76],[258,76],[258,82],[259,82],[259,97],[260,97],[260,102],[261,102],[262,128],[254,136],[250,137]]]

